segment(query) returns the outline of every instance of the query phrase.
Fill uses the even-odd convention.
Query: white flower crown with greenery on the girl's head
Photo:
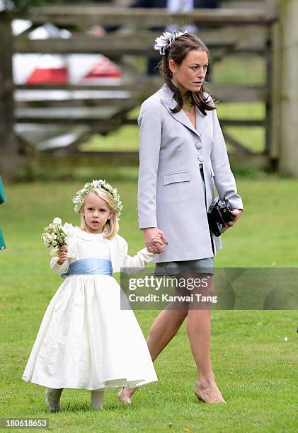
[[[85,183],[84,188],[76,192],[76,195],[72,199],[72,202],[74,203],[74,212],[80,214],[81,207],[84,203],[86,195],[92,190],[97,190],[101,188],[105,191],[110,192],[110,194],[112,195],[115,203],[115,214],[119,218],[123,206],[120,200],[120,195],[118,194],[118,190],[116,188],[113,188],[108,182],[105,182],[105,180],[102,179],[92,180],[91,182],[87,182]]]

